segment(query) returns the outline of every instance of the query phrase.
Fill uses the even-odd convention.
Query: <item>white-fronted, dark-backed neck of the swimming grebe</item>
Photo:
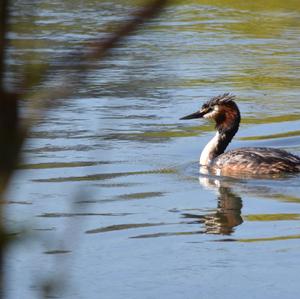
[[[209,166],[216,157],[223,154],[238,131],[238,128],[239,121],[229,129],[224,129],[222,125],[217,125],[218,131],[216,135],[209,141],[201,153],[199,161],[200,165]]]

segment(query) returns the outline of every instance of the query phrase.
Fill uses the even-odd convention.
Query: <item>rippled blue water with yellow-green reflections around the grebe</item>
[[[300,6],[201,3],[170,5],[34,127],[7,194],[8,226],[27,231],[7,298],[40,298],[53,280],[58,298],[298,298],[300,177],[199,178],[214,128],[179,118],[232,92],[231,148],[300,154]],[[135,5],[16,1],[11,74],[61,60]]]

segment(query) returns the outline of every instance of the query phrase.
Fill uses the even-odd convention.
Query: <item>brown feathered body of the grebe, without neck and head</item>
[[[267,147],[245,147],[216,157],[210,168],[222,175],[269,175],[300,172],[300,157]]]

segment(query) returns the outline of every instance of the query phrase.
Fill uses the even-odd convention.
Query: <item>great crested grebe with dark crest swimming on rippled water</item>
[[[205,146],[200,165],[218,175],[272,175],[300,172],[300,157],[268,147],[243,147],[224,153],[239,129],[241,115],[235,96],[216,96],[202,108],[181,119],[206,118],[216,122],[217,133]]]

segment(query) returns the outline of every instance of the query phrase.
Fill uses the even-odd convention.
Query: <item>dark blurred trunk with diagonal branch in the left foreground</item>
[[[107,38],[95,39],[87,44],[81,51],[75,51],[71,54],[71,63],[75,72],[85,75],[91,68],[94,60],[101,60],[110,54],[116,45],[134,33],[146,21],[154,18],[161,12],[167,0],[149,1],[143,8],[137,10],[129,16],[129,20],[119,24],[114,33],[108,35]],[[6,232],[4,229],[4,212],[3,212],[3,195],[7,190],[12,174],[21,158],[21,149],[25,139],[32,126],[37,119],[45,116],[49,108],[57,107],[62,98],[73,93],[74,82],[71,79],[60,78],[60,84],[51,89],[39,90],[30,97],[29,111],[32,112],[25,121],[19,117],[19,102],[25,95],[26,78],[24,78],[24,90],[19,94],[12,94],[5,90],[5,62],[7,50],[7,33],[9,19],[9,0],[1,0],[0,3],[0,299],[4,298],[4,253],[6,246]],[[63,60],[65,66],[70,64],[70,57],[67,56]],[[41,70],[39,74],[35,74],[38,83],[47,80],[47,76],[55,70],[54,66]],[[77,81],[78,83],[78,81]]]

